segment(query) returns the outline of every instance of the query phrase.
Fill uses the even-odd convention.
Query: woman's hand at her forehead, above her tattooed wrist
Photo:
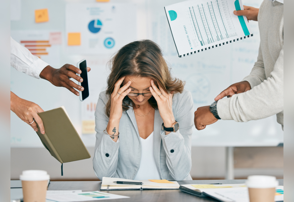
[[[131,85],[131,81],[129,81],[128,83],[126,83],[126,85],[120,88],[121,83],[123,83],[124,79],[125,77],[120,78],[114,85],[114,89],[111,94],[109,120],[119,121],[123,114],[123,98],[125,98],[126,95],[128,95],[128,93],[131,92],[131,88],[129,88],[129,86]]]

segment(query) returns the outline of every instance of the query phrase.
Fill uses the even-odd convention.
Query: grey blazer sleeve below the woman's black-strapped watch
[[[191,138],[194,125],[194,103],[191,92],[185,92],[176,109],[175,119],[180,125],[177,132],[166,135],[161,130],[161,139],[166,153],[169,173],[176,181],[185,179],[191,170]]]

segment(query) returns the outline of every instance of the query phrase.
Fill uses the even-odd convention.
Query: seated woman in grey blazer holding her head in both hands
[[[156,43],[134,41],[118,51],[95,112],[100,180],[192,179],[193,100],[184,85]]]

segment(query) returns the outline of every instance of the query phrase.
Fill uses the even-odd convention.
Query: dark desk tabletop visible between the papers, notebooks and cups
[[[284,185],[284,180],[279,179],[279,185]],[[241,184],[245,180],[184,180],[178,181],[181,184]],[[48,190],[82,190],[82,191],[100,191],[101,181],[53,181],[50,182]],[[117,199],[115,201],[132,201],[132,202],[206,202],[216,201],[212,198],[200,198],[180,190],[121,190],[121,191],[103,191],[130,198]],[[114,200],[107,200],[107,202]]]

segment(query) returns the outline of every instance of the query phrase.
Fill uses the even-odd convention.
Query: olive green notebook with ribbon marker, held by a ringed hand
[[[46,112],[40,112],[45,134],[38,132],[41,142],[50,154],[61,163],[88,159],[91,157],[74,125],[69,118],[64,106]]]

